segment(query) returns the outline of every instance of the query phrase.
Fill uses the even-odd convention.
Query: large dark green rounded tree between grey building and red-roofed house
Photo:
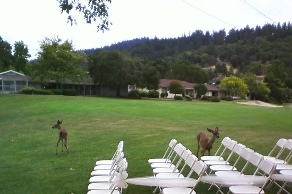
[[[97,51],[90,55],[89,73],[95,83],[120,90],[137,83],[137,69],[130,60],[117,51]],[[139,87],[139,85],[137,85]]]

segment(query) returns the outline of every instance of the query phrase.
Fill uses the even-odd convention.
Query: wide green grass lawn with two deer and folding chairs
[[[290,108],[224,101],[0,95],[0,193],[86,193],[96,160],[110,159],[120,140],[124,140],[129,177],[151,176],[149,158],[161,157],[172,138],[195,153],[196,135],[207,133],[206,127],[218,126],[220,132],[211,154],[229,136],[267,155],[279,138],[292,138],[291,113]],[[56,156],[58,130],[52,125],[58,119],[68,130],[70,154],[62,152],[59,144]],[[232,157],[232,164],[235,159]],[[239,170],[244,164],[239,162]],[[250,173],[254,170],[252,166],[248,169]],[[200,183],[196,192],[216,191],[207,188]],[[124,193],[152,190],[129,185]],[[266,193],[276,191],[273,186]]]

